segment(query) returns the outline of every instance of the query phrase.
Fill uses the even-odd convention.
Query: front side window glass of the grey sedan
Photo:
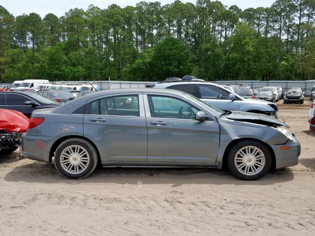
[[[189,103],[174,97],[148,95],[151,117],[194,119],[199,111]]]

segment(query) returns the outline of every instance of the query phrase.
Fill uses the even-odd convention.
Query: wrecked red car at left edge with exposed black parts
[[[26,132],[29,118],[22,113],[0,109],[0,155],[15,151],[21,143],[21,135]]]

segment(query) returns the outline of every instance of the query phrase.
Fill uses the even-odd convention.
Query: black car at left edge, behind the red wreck
[[[7,91],[0,93],[0,108],[19,111],[28,118],[31,117],[34,110],[58,106],[60,106],[59,102],[50,100],[37,93],[27,91]]]

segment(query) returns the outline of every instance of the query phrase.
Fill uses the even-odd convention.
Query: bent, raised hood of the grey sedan
[[[284,126],[289,128],[287,124],[281,122],[279,119],[257,113],[231,112],[231,114],[227,115],[226,118],[256,124],[264,124],[268,126]]]

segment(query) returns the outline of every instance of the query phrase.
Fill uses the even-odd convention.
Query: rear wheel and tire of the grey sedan
[[[55,152],[57,171],[68,178],[85,178],[92,174],[98,155],[94,146],[80,138],[63,141]]]

